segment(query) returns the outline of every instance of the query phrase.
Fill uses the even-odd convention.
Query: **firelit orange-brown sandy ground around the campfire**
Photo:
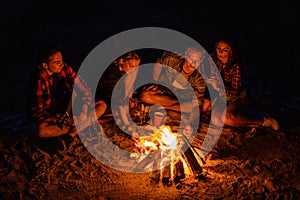
[[[168,184],[154,182],[151,172],[127,173],[104,165],[78,136],[38,139],[29,129],[2,131],[0,196],[2,199],[299,199],[300,130],[295,126],[299,115],[291,115],[295,109],[299,111],[299,106],[286,105],[276,113],[282,125],[279,131],[224,127],[202,165],[201,175],[187,174],[180,182]],[[266,110],[271,107],[274,110],[276,105],[264,103]],[[101,126],[112,143],[128,152],[137,152],[135,142],[114,121]],[[207,127],[205,122],[200,124],[193,147],[201,147]],[[91,132],[94,129],[86,129],[84,134]],[[214,137],[209,135],[208,139]],[[103,152],[97,137],[90,136],[90,141],[92,149],[126,166],[118,153]]]

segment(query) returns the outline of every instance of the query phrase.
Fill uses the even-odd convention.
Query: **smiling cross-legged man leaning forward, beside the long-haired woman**
[[[199,116],[195,108],[201,110],[203,104],[204,77],[212,73],[212,66],[213,61],[204,49],[188,47],[184,56],[165,52],[154,65],[153,79],[157,84],[145,87],[141,99],[148,104],[188,113],[189,123],[193,124]]]

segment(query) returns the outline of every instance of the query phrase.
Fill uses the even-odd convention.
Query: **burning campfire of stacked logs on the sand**
[[[136,168],[152,167],[157,183],[179,182],[202,173],[203,160],[186,136],[172,132],[169,126],[163,125],[153,135],[140,137],[136,146],[144,153]]]

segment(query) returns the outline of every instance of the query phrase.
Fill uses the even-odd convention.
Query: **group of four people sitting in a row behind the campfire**
[[[86,82],[76,76],[75,70],[63,61],[62,51],[56,45],[43,46],[39,51],[39,66],[32,98],[32,127],[40,137],[64,134],[75,136],[107,112],[108,105],[119,113],[123,124],[129,125],[134,82],[142,56],[137,51],[117,58],[112,65],[123,72],[122,82],[116,88],[114,101],[96,99]],[[219,38],[211,54],[203,48],[188,46],[183,54],[165,51],[153,66],[150,84],[139,89],[139,100],[147,105],[160,105],[166,110],[187,114],[187,127],[196,129],[203,113],[211,112],[215,126],[265,126],[279,129],[277,120],[270,117],[251,118],[247,115],[250,102],[242,84],[242,70],[236,44],[231,38]],[[72,115],[71,96],[82,101],[82,111],[67,118],[64,126],[57,122],[63,113]],[[216,95],[211,95],[211,92]],[[73,94],[74,96],[74,94]],[[223,106],[215,106],[225,101]],[[91,109],[91,106],[94,109]],[[78,124],[78,125],[77,125]],[[196,124],[196,125],[195,125]]]

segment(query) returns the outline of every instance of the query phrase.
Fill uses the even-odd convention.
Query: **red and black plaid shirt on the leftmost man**
[[[32,117],[34,119],[41,121],[48,117],[55,116],[58,114],[57,112],[60,112],[56,109],[58,107],[57,104],[64,105],[65,108],[63,109],[66,109],[66,105],[68,104],[73,91],[73,86],[76,86],[76,92],[78,90],[80,93],[82,102],[87,105],[91,104],[92,99],[90,89],[79,76],[76,77],[76,72],[71,66],[64,63],[62,71],[58,74],[52,75],[49,75],[42,67],[39,67],[39,69],[40,72],[34,88],[34,99],[31,107]],[[57,89],[59,90],[64,88],[64,93],[59,94],[57,91],[55,91],[54,76],[59,77],[61,83],[59,85],[60,88]],[[63,100],[64,96],[66,96],[65,100]],[[58,101],[57,99],[61,101]],[[61,112],[64,111],[62,110]]]

